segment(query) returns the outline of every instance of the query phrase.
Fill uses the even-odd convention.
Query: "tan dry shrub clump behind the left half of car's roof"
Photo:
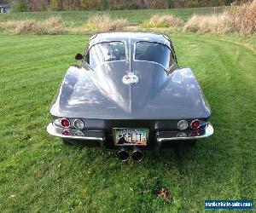
[[[125,26],[129,26],[126,19],[111,19],[108,14],[96,14],[90,17],[85,24],[89,30],[96,32],[121,30]]]

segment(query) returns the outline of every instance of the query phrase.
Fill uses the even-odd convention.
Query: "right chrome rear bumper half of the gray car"
[[[156,141],[161,143],[163,141],[179,141],[179,140],[196,140],[208,137],[213,134],[213,127],[211,123],[203,130],[194,131],[160,131],[156,133]],[[191,135],[191,133],[198,133],[198,135]]]

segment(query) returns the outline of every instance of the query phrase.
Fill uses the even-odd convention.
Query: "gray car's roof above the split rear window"
[[[170,47],[169,37],[162,33],[155,32],[103,32],[98,33],[90,37],[89,49],[96,43],[104,42],[126,42],[126,43],[136,43],[136,42],[155,42],[163,43]]]

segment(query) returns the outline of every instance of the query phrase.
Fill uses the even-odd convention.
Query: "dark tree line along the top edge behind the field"
[[[197,8],[233,2],[235,0],[0,0],[20,11]]]

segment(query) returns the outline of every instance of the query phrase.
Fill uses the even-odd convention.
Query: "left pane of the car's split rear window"
[[[103,62],[113,60],[126,60],[125,43],[97,43],[91,47],[86,55],[86,61],[92,68],[96,68],[97,65],[101,65]]]

